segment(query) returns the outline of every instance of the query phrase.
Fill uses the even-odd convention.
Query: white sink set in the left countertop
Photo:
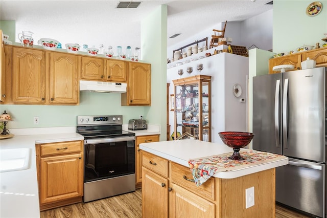
[[[30,167],[30,148],[0,149],[0,172]]]

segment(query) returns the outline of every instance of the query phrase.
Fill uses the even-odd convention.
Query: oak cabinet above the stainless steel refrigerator
[[[327,48],[320,48],[269,59],[269,74],[280,73],[273,71],[272,68],[285,64],[293,64],[294,70],[300,70],[301,62],[308,57],[316,61],[316,67],[327,67]]]

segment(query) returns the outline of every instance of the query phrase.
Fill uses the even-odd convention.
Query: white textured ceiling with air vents
[[[138,8],[116,9],[119,1],[1,0],[0,18],[15,20],[16,33],[30,30],[35,39],[48,37],[62,43],[134,47],[140,44],[141,20],[166,4],[169,47],[222,21],[242,21],[272,9],[272,5],[266,5],[269,0],[140,2]],[[175,33],[181,34],[169,38]]]

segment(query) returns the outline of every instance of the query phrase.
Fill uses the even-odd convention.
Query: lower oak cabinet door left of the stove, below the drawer
[[[83,195],[81,154],[40,159],[40,204]]]

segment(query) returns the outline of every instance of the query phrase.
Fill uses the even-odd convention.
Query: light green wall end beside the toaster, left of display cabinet
[[[167,5],[161,5],[141,23],[141,56],[151,63],[151,107],[146,117],[160,124],[160,141],[166,140],[167,125]]]

